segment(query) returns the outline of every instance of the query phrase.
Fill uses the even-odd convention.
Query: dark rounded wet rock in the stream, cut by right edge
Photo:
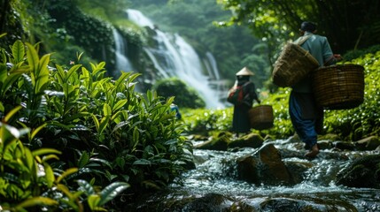
[[[337,185],[380,188],[380,155],[368,155],[337,174]]]

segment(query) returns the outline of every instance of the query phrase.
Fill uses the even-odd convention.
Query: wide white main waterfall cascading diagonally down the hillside
[[[215,73],[217,72],[215,64],[211,65],[214,68],[213,75],[205,75],[197,52],[179,34],[167,34],[160,31],[141,11],[128,9],[127,13],[128,19],[134,21],[138,26],[150,27],[155,31],[156,35],[153,39],[156,40],[158,46],[154,49],[145,48],[144,50],[161,77],[178,77],[198,91],[198,94],[205,100],[207,108],[224,108],[218,91],[213,89],[213,85],[210,83],[210,77],[215,78],[217,75],[219,78],[219,73]]]

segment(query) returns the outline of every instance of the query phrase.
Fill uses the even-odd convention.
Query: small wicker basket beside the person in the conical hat
[[[273,126],[273,109],[270,105],[259,105],[248,111],[251,127],[256,130],[264,130]]]

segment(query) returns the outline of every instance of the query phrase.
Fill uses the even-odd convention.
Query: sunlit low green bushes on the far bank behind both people
[[[351,110],[325,110],[324,133],[338,134],[344,140],[361,140],[380,133],[380,108],[378,81],[380,75],[380,51],[376,54],[353,59],[352,64],[361,64],[365,68],[364,102]],[[288,104],[290,87],[279,88],[274,94],[261,92],[262,104],[273,107],[274,126],[260,133],[271,135],[273,139],[288,138],[294,133],[289,116]],[[188,122],[190,133],[207,134],[209,131],[229,131],[232,124],[231,108],[225,110],[184,110],[183,118]],[[254,131],[254,130],[253,130]]]

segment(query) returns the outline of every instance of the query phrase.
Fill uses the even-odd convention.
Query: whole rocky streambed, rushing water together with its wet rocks
[[[128,211],[380,211],[379,140],[318,141],[307,160],[297,136],[193,140],[195,169]],[[329,136],[334,138],[334,136]]]

